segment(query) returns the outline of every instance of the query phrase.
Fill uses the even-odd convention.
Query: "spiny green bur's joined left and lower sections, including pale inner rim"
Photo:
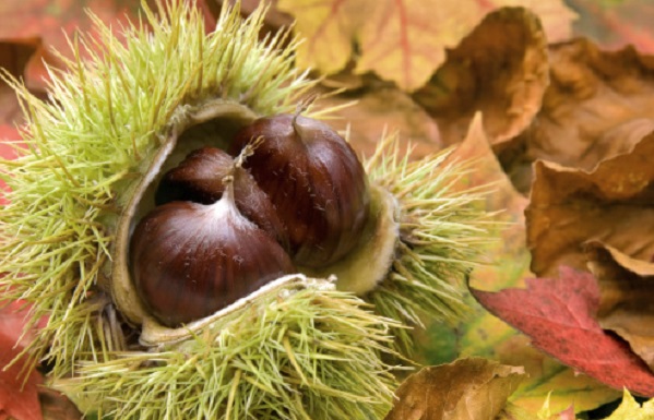
[[[50,70],[48,101],[4,73],[25,109],[26,147],[2,161],[0,287],[33,304],[31,326],[47,317],[26,351],[100,417],[381,418],[394,379],[380,353],[400,323],[333,281],[283,277],[177,329],[150,325],[118,281],[134,197],[148,197],[167,160],[215,131],[224,147],[254,118],[293,111],[313,83],[293,67],[296,41],[259,40],[262,9],[242,20],[238,4],[225,8],[206,33],[189,3],[145,8],[124,45],[95,19],[99,39],[72,43],[68,71]]]

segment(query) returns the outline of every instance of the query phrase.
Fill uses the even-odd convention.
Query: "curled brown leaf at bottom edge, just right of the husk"
[[[400,385],[385,420],[492,420],[524,376],[481,358],[423,368]]]

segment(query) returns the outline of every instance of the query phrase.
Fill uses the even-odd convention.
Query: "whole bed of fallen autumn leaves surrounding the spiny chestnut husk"
[[[227,2],[189,1],[210,27]],[[242,13],[257,3],[242,0]],[[425,320],[416,352],[427,367],[397,389],[385,420],[653,419],[654,5],[270,3],[266,27],[295,22],[306,38],[297,64],[322,77],[322,106],[338,109],[330,123],[358,152],[396,131],[416,157],[455,147],[453,159],[475,163],[468,185],[495,188],[486,205],[500,240],[471,274],[472,313],[454,327]],[[49,48],[74,57],[66,39],[74,45],[74,32],[88,27],[84,7],[119,27],[136,4],[4,0],[0,68],[44,93],[44,62],[61,60]],[[3,157],[20,144],[21,118],[0,80]],[[22,319],[9,308],[0,311],[0,367],[22,348]],[[21,387],[20,369],[0,371],[0,420],[79,417],[61,395],[37,388],[40,373]],[[620,397],[611,415],[593,415]]]

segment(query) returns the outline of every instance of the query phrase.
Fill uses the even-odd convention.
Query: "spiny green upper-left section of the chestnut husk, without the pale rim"
[[[126,350],[103,290],[114,226],[175,120],[214,98],[260,115],[290,111],[311,85],[293,68],[295,43],[258,40],[261,9],[246,21],[225,9],[205,35],[189,3],[168,1],[157,16],[146,9],[150,29],[124,27],[124,46],[96,19],[99,40],[71,43],[78,59],[50,71],[47,103],[9,81],[26,111],[28,148],[1,163],[11,192],[0,208],[0,291],[34,303],[32,323],[49,317],[27,351],[50,359],[55,376],[71,373],[73,360]],[[82,62],[86,44],[92,58]]]

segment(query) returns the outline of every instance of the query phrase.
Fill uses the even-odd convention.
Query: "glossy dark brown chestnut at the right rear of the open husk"
[[[245,166],[288,230],[293,261],[323,267],[341,260],[357,245],[369,213],[366,173],[353,148],[323,122],[278,115],[241,129],[230,154],[259,137]]]

